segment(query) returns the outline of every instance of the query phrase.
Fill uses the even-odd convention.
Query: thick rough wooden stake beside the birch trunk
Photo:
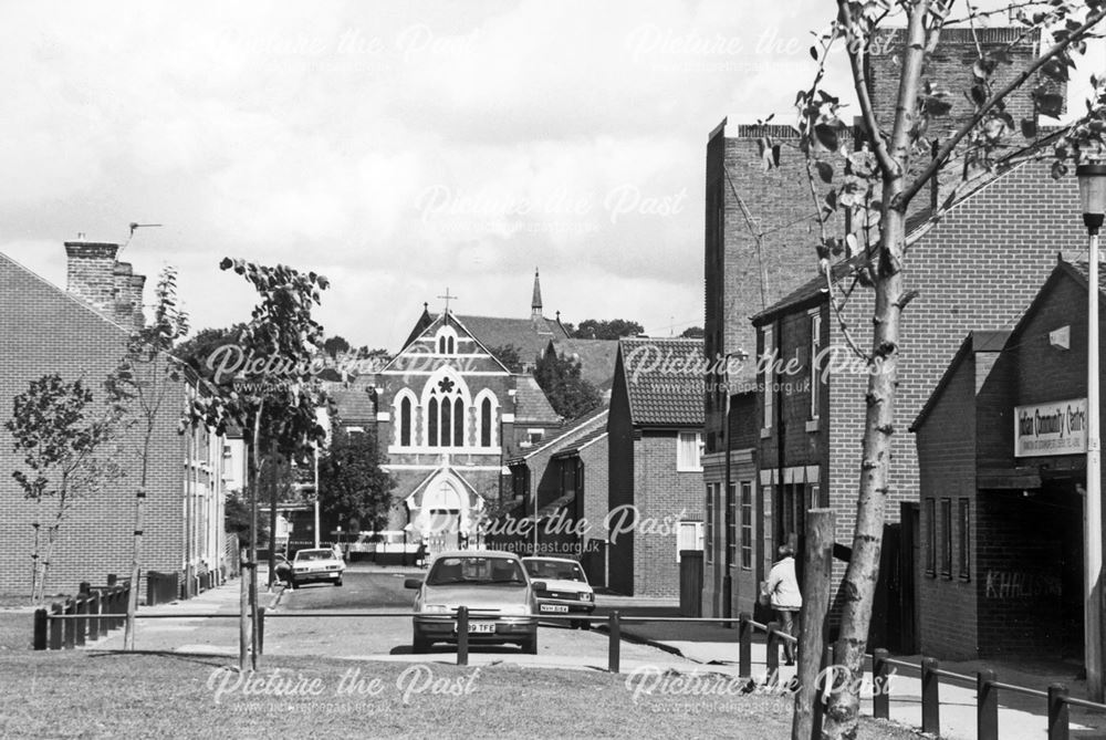
[[[814,705],[818,674],[825,657],[825,624],[830,612],[833,573],[834,515],[831,509],[806,512],[806,546],[803,553],[803,608],[799,618],[799,689],[791,725],[792,740],[810,740],[814,733]],[[789,655],[795,653],[789,647]]]

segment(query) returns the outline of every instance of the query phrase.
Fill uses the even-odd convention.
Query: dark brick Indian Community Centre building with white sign
[[[1013,331],[962,340],[911,427],[927,655],[1083,657],[1087,288],[1058,262]]]

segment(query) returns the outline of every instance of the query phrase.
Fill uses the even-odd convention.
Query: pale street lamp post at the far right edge
[[[1102,449],[1098,419],[1098,231],[1106,215],[1106,165],[1079,165],[1079,205],[1087,227],[1087,484],[1084,504],[1084,658],[1087,694],[1103,700],[1102,584]]]

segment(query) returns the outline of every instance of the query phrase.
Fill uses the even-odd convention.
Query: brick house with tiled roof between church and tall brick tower
[[[620,340],[607,421],[607,585],[678,596],[702,531],[701,340]]]

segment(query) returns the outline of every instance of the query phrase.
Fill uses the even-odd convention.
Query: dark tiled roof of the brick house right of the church
[[[638,427],[703,425],[703,341],[619,340],[630,417]]]

